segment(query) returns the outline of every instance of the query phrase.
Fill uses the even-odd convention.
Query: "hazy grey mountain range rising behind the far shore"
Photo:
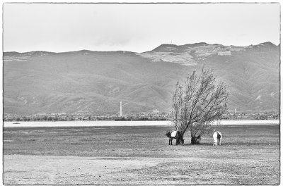
[[[152,51],[4,53],[4,113],[117,114],[170,111],[177,81],[214,70],[229,108],[279,110],[279,46],[162,44]]]

